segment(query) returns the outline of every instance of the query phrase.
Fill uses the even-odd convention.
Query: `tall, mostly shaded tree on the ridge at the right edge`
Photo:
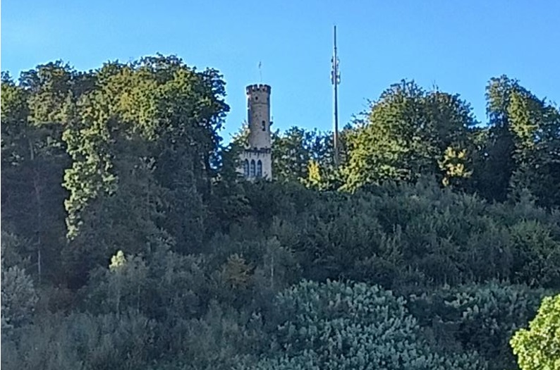
[[[487,199],[518,199],[529,190],[544,206],[558,204],[560,113],[518,80],[501,75],[486,88],[489,123],[475,171]]]

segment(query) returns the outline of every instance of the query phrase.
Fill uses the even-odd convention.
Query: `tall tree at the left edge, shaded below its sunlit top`
[[[68,66],[49,63],[22,73],[19,85],[8,75],[1,84],[2,217],[14,233],[28,238],[35,264],[29,272],[39,283],[45,276],[62,280],[66,192],[60,184],[68,156],[61,132],[72,78]]]

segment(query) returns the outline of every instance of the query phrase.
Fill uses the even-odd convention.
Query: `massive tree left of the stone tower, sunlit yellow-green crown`
[[[172,235],[176,250],[200,251],[229,110],[216,70],[174,56],[106,63],[95,76],[63,134],[72,158],[63,183],[66,258],[78,284],[117,249],[146,252]]]

